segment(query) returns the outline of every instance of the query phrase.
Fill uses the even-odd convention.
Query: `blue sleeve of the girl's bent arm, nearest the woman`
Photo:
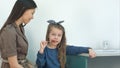
[[[38,68],[44,68],[45,66],[45,54],[37,53],[36,64]]]

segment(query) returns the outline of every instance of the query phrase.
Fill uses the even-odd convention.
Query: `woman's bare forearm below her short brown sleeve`
[[[10,64],[10,68],[23,68],[17,60],[17,56],[8,57],[8,62]]]

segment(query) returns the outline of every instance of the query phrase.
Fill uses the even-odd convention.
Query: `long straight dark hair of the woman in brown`
[[[0,34],[6,25],[15,23],[15,21],[19,19],[26,10],[35,9],[36,7],[37,5],[33,0],[17,0],[8,19],[1,28]]]

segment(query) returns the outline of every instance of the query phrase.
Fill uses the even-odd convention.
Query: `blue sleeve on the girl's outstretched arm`
[[[89,47],[77,47],[77,46],[67,46],[66,54],[67,55],[77,55],[81,53],[88,53]]]

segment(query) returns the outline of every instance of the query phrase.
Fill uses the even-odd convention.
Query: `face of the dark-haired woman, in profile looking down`
[[[25,24],[27,24],[31,19],[33,19],[33,14],[35,13],[35,9],[28,9],[22,15],[22,20]]]

